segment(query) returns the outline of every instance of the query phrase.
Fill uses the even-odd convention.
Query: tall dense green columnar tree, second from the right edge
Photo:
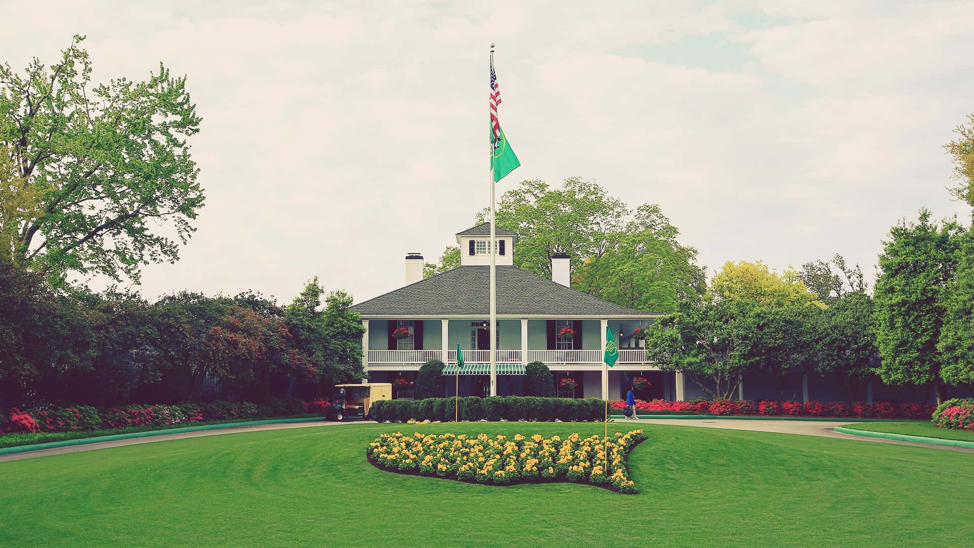
[[[902,219],[889,230],[876,283],[878,373],[886,384],[934,383],[938,402],[942,359],[937,351],[946,314],[942,298],[954,279],[962,228],[939,225],[921,209],[916,223]]]

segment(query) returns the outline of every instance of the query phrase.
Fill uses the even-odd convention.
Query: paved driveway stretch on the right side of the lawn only
[[[916,446],[937,450],[958,450],[974,452],[971,448],[955,448],[952,446],[938,446],[935,444],[918,444],[916,442],[900,442],[897,440],[883,440],[881,438],[865,438],[852,436],[833,430],[843,424],[855,424],[855,420],[748,420],[742,418],[640,418],[638,420],[616,419],[618,423],[643,422],[646,424],[669,424],[673,426],[696,426],[700,428],[725,428],[728,430],[751,430],[753,432],[774,432],[778,434],[799,434],[802,436],[822,436],[824,438],[840,438],[843,440],[857,440],[880,444],[896,444],[900,446]]]

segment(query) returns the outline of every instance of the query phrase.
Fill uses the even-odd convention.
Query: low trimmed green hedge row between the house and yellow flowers
[[[468,396],[459,400],[460,420],[602,420],[605,418],[604,400],[588,398],[538,398],[533,396]],[[369,413],[379,422],[414,420],[453,420],[454,398],[425,400],[382,400],[372,404]]]

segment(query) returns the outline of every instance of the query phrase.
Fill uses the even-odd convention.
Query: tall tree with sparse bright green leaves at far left
[[[195,230],[204,196],[187,137],[201,119],[186,78],[162,64],[147,81],[90,88],[82,40],[50,67],[34,59],[20,75],[0,66],[0,144],[32,204],[0,219],[0,257],[9,249],[11,263],[56,284],[70,271],[137,283],[142,264],[178,258],[177,241],[154,225],[169,221],[183,244]]]

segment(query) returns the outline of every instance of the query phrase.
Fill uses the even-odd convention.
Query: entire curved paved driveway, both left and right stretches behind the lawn
[[[860,442],[872,442],[876,444],[896,444],[900,446],[915,446],[918,448],[929,448],[936,450],[956,450],[961,452],[974,452],[972,448],[955,448],[952,446],[938,446],[934,444],[918,444],[915,442],[900,442],[897,440],[883,440],[880,438],[864,438],[842,434],[833,430],[836,426],[843,424],[855,424],[855,420],[748,420],[740,418],[714,418],[714,419],[676,419],[676,418],[640,418],[616,419],[618,424],[642,423],[642,424],[668,424],[671,426],[693,426],[698,428],[724,428],[727,430],[750,430],[753,432],[771,432],[776,434],[796,434],[800,436],[820,436],[823,438],[839,438],[843,440],[855,440]],[[107,448],[119,448],[124,446],[135,446],[140,444],[153,444],[156,442],[167,442],[169,440],[184,440],[187,438],[201,438],[204,436],[218,436],[221,434],[236,434],[239,432],[258,432],[261,430],[282,430],[288,428],[311,428],[315,426],[351,426],[354,424],[375,424],[371,420],[367,421],[313,421],[313,422],[281,422],[277,424],[248,424],[243,426],[227,426],[226,428],[214,428],[211,430],[198,430],[195,432],[179,432],[175,434],[160,434],[158,436],[147,436],[144,438],[130,438],[128,440],[115,440],[111,442],[95,442],[94,444],[83,444],[79,446],[67,446],[63,448],[53,448],[47,450],[29,450],[15,452],[12,454],[0,455],[0,462],[8,460],[21,460],[24,458],[37,458],[39,456],[51,456],[54,454],[65,454],[69,452],[80,452],[85,450],[102,450]]]

